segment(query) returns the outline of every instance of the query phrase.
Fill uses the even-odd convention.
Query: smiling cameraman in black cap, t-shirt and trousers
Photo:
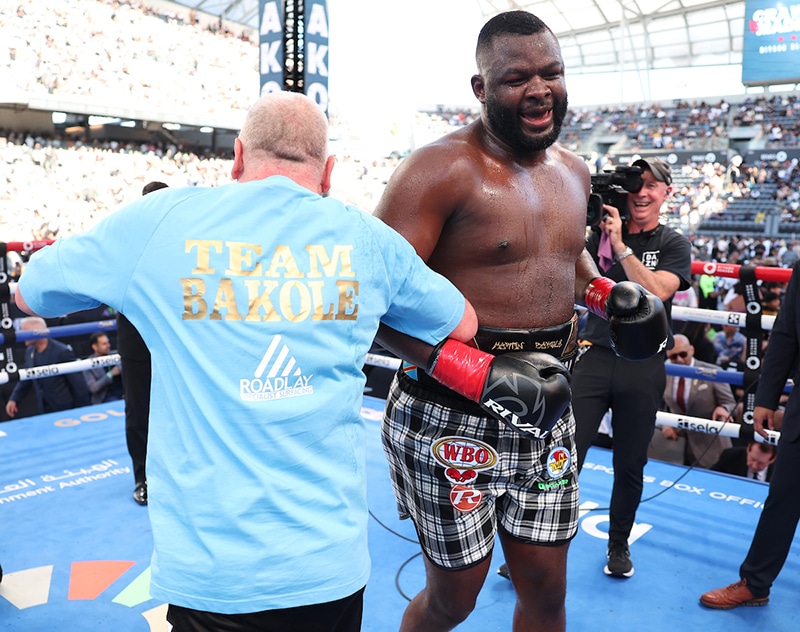
[[[664,302],[669,314],[672,296],[690,284],[691,245],[686,237],[659,222],[661,207],[672,193],[669,165],[658,158],[643,158],[632,166],[642,170],[641,188],[628,193],[626,203],[620,204],[624,207],[621,211],[603,205],[605,215],[587,239],[586,250],[601,273],[614,281],[639,283]],[[612,577],[630,577],[633,563],[628,537],[641,500],[647,448],[664,393],[665,354],[640,362],[623,360],[609,346],[608,322],[592,313],[581,338],[584,352],[572,378],[578,467],[583,466],[610,408],[614,486],[604,572]],[[668,346],[672,346],[671,336]]]

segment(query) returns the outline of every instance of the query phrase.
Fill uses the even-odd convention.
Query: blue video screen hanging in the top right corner
[[[800,0],[747,0],[742,83],[800,81]]]

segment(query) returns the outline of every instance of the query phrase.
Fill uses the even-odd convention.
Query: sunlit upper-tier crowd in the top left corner
[[[258,96],[256,36],[189,8],[0,0],[0,34],[6,95],[16,89],[203,115],[244,112]]]

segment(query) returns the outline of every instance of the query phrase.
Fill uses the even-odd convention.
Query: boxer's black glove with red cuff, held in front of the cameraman
[[[647,360],[667,348],[669,322],[664,303],[638,283],[592,279],[586,307],[608,320],[611,348],[626,360]]]

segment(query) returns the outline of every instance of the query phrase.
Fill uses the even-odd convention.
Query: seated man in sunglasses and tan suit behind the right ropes
[[[675,334],[675,346],[667,352],[672,364],[697,366],[711,371],[719,369],[714,364],[701,362],[694,357],[694,347],[683,334]],[[710,382],[697,378],[667,376],[664,388],[664,403],[670,412],[689,417],[700,417],[713,421],[726,421],[736,407],[730,385],[723,382]],[[698,430],[676,430],[671,426],[661,429],[664,438],[677,440],[686,436],[686,455],[684,463],[697,467],[710,468],[717,462],[723,450],[731,447],[730,437],[708,434]]]

